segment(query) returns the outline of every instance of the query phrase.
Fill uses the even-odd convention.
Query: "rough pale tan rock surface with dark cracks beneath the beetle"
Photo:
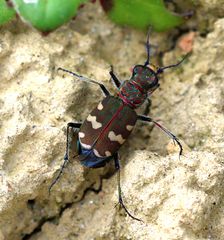
[[[89,170],[71,161],[50,195],[48,187],[63,161],[66,123],[82,121],[102,99],[97,87],[57,68],[115,93],[110,64],[127,79],[129,68],[145,61],[145,33],[114,26],[97,4],[48,36],[21,22],[1,27],[0,240],[224,239],[224,18],[214,14],[218,1],[199,2],[204,12],[211,9],[212,30],[195,31],[191,56],[163,74],[150,109],[181,139],[184,156],[158,128],[142,123],[120,152],[124,201],[143,223],[114,208],[113,163]],[[155,63],[183,55],[172,32],[151,38],[166,52]]]

